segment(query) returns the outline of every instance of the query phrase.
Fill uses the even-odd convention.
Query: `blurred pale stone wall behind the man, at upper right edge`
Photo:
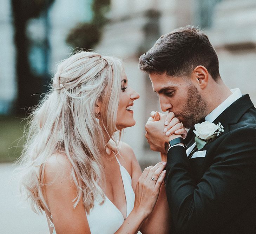
[[[223,81],[249,93],[256,105],[256,1],[221,1],[206,34],[216,48]]]

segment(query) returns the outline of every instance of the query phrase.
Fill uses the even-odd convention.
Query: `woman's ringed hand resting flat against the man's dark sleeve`
[[[134,209],[143,214],[145,219],[156,205],[160,187],[166,174],[165,165],[166,162],[158,162],[155,166],[147,167],[137,182]]]

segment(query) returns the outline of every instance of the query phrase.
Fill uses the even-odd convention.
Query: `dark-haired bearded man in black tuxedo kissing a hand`
[[[225,86],[215,49],[195,27],[161,36],[139,66],[169,112],[167,122],[165,115],[149,119],[146,137],[167,160],[172,233],[256,233],[256,109],[249,95]],[[173,134],[179,121],[190,128],[184,141]]]

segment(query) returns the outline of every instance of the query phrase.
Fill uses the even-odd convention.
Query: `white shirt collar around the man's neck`
[[[206,115],[205,121],[209,121],[212,123],[233,102],[241,98],[242,93],[239,88],[234,88],[230,91],[232,92],[232,94],[224,102],[222,102],[221,105],[217,106],[210,114]]]

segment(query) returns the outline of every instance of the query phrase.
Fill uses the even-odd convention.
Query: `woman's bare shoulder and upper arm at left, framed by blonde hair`
[[[64,155],[53,155],[44,170],[45,199],[57,233],[91,233],[82,200],[76,208],[72,200],[77,188],[70,178],[71,165]],[[49,215],[48,215],[49,216]]]

